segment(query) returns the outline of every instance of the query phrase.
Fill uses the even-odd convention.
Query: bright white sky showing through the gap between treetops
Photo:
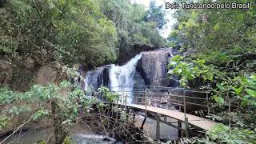
[[[147,8],[150,6],[150,0],[132,0],[132,2],[140,3]],[[158,6],[165,6],[165,2],[174,2],[174,0],[155,0],[156,4]],[[174,13],[174,10],[166,10],[166,18],[167,18],[167,23],[166,26],[164,27],[163,30],[160,30],[160,34],[162,35],[163,38],[167,38],[168,35],[170,34],[171,26],[176,22],[176,20],[172,17],[172,14]]]

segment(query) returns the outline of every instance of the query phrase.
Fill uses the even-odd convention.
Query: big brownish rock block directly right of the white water
[[[169,86],[167,80],[167,61],[170,58],[169,50],[155,50],[142,53],[138,61],[137,70],[150,86]]]

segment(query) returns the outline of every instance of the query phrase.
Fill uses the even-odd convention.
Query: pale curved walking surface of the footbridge
[[[166,115],[170,118],[178,119],[181,121],[185,121],[185,115],[184,113],[178,111],[178,110],[166,110],[159,107],[154,106],[142,106],[142,105],[134,105],[134,104],[128,104],[127,106],[134,107],[140,110],[147,110],[150,112],[154,112],[157,114]],[[186,114],[186,118],[188,118],[188,122],[194,126],[198,126],[199,128],[203,130],[210,130],[213,126],[217,125],[218,122],[210,121],[206,118],[201,118],[192,114]]]

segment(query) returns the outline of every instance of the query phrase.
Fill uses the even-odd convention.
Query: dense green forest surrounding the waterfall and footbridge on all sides
[[[250,9],[175,10],[177,22],[162,38],[168,11],[154,1],[146,8],[126,0],[0,0],[0,136],[47,123],[54,127],[50,142],[73,143],[74,124],[90,111],[106,115],[103,108],[110,106],[86,98],[78,67],[94,70],[167,47],[178,49],[169,77],[178,76],[185,89],[210,91],[210,112],[196,114],[222,123],[175,142],[255,143],[256,3],[239,2],[250,2]],[[49,78],[40,76],[49,70]],[[106,87],[99,93],[110,103],[118,100]],[[110,121],[102,115],[102,123]],[[110,134],[106,127],[102,134]],[[146,137],[137,142],[154,143]]]

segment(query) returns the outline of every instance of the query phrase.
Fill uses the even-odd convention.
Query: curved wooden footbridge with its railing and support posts
[[[134,118],[136,114],[144,116],[141,128],[143,128],[148,114],[154,114],[153,118],[157,121],[156,140],[160,140],[160,122],[177,128],[178,136],[182,137],[182,134],[185,134],[186,138],[190,135],[189,126],[207,131],[218,124],[218,122],[206,118],[187,114],[192,106],[196,106],[197,110],[207,110],[209,113],[209,92],[207,91],[162,86],[116,87],[111,90],[121,94],[121,98],[116,104],[124,106],[127,113],[132,112]],[[161,105],[166,107],[162,108]],[[138,113],[138,111],[144,111],[144,114]],[[168,118],[172,118],[176,122],[168,122]]]

